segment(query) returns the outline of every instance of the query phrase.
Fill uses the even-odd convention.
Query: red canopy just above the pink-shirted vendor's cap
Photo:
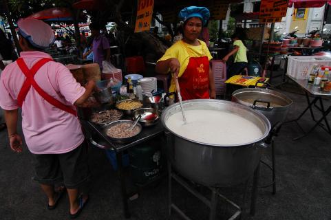
[[[72,21],[72,13],[67,8],[48,8],[29,17],[45,21]]]

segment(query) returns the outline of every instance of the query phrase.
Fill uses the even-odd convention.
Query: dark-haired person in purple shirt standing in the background
[[[110,62],[110,46],[109,41],[105,35],[100,34],[101,27],[98,23],[90,23],[89,30],[91,30],[93,40],[93,62],[98,63],[100,69],[103,69],[103,61]]]

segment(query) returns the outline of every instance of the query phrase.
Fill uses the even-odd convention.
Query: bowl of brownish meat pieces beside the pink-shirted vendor
[[[92,113],[89,118],[90,122],[98,124],[100,126],[105,126],[110,122],[120,120],[123,117],[123,112],[117,109],[109,109],[105,111],[98,111]]]

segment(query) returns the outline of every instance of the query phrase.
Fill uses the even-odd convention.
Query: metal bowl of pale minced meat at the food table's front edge
[[[108,124],[104,131],[105,134],[114,142],[125,144],[131,142],[141,131],[141,124],[137,123],[134,128],[129,131],[130,127],[134,124],[131,120],[118,120]]]

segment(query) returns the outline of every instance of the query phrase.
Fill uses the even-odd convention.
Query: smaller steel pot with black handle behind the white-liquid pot
[[[271,125],[284,122],[292,104],[290,98],[278,91],[259,88],[238,89],[233,92],[232,100],[266,115]]]

